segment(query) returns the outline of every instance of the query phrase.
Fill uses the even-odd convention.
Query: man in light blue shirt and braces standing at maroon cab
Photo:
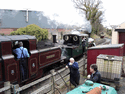
[[[27,78],[27,58],[29,57],[29,53],[26,48],[23,47],[23,43],[19,42],[19,48],[13,50],[13,52],[17,55],[17,60],[20,63],[21,77],[22,81]]]

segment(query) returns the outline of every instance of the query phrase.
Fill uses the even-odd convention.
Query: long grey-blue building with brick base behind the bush
[[[10,32],[30,24],[36,24],[48,31],[58,27],[57,22],[45,16],[42,11],[0,9],[0,33]],[[58,31],[65,31],[66,25],[60,25]]]

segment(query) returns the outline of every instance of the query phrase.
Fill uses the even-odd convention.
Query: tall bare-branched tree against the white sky
[[[99,26],[102,25],[103,11],[101,10],[101,0],[72,0],[77,9],[84,12],[87,20],[90,21],[92,25],[92,31],[95,30],[97,34]],[[97,27],[95,26],[97,25]],[[96,27],[96,28],[95,28]]]

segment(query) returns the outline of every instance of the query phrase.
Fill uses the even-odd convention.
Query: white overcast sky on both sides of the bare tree
[[[125,0],[102,0],[105,10],[105,26],[119,25],[125,21]],[[36,10],[58,22],[82,25],[85,18],[74,8],[71,0],[0,0],[0,9]]]

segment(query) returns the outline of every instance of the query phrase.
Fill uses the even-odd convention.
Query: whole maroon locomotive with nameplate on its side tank
[[[28,78],[22,81],[20,64],[13,54],[16,49],[15,43],[22,41],[23,46],[28,49],[27,69]],[[37,49],[36,38],[30,35],[0,36],[0,86],[3,87],[5,81],[11,84],[29,83],[43,75],[43,70],[54,63],[64,60],[61,57],[60,47],[49,47]]]

